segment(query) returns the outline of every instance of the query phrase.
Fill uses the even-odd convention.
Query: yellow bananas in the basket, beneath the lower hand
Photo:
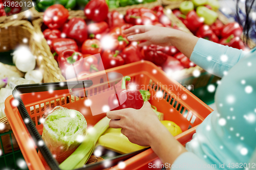
[[[97,145],[102,145],[102,147],[120,154],[127,154],[146,148],[130,142],[129,139],[121,133],[121,129],[114,128],[107,129],[105,133],[100,136]]]

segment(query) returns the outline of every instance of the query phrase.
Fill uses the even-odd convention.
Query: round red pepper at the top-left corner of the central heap
[[[50,29],[61,28],[69,17],[69,11],[60,4],[47,8],[44,13],[44,23]]]

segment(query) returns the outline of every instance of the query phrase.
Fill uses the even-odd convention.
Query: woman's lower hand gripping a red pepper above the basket
[[[155,141],[155,134],[159,131],[167,131],[149,102],[144,102],[139,110],[127,108],[109,111],[106,116],[111,118],[109,124],[111,128],[122,128],[122,134],[132,143],[141,146],[151,146]]]

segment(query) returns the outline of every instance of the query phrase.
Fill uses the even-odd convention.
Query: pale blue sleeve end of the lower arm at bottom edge
[[[214,170],[218,167],[219,164],[208,164],[194,153],[185,152],[174,161],[171,170]]]

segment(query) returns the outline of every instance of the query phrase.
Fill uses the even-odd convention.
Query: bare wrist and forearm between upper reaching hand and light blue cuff
[[[194,47],[196,46],[198,39],[198,37],[180,30],[175,31],[174,34],[170,35],[170,42],[188,58],[190,58],[194,51]]]

